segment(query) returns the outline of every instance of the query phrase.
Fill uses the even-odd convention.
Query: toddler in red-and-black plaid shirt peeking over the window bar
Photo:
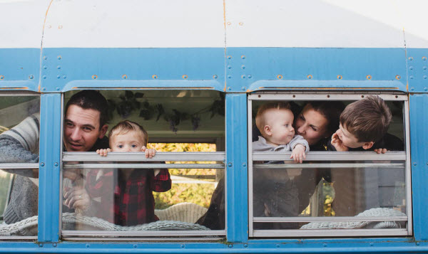
[[[119,122],[108,138],[111,148],[96,151],[101,156],[107,156],[108,152],[146,152],[146,157],[151,158],[156,154],[155,149],[146,149],[148,134],[136,122]],[[101,209],[96,216],[121,226],[158,221],[153,191],[170,188],[168,169],[93,170],[86,181],[89,196],[101,198]]]

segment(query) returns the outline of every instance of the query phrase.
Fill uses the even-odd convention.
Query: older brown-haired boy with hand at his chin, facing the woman
[[[386,152],[382,138],[387,134],[392,115],[387,104],[379,96],[367,96],[347,105],[340,115],[339,129],[332,135],[330,150],[367,150]],[[390,135],[392,136],[392,135]],[[375,143],[377,147],[373,147]],[[398,142],[397,146],[401,146]],[[380,148],[382,147],[382,148]]]

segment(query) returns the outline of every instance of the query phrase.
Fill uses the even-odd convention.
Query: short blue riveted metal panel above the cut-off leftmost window
[[[39,48],[0,48],[0,89],[38,91]]]

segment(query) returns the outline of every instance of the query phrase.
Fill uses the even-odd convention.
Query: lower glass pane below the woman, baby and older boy
[[[340,217],[367,217],[360,228],[372,226],[372,220],[390,228],[383,222],[399,219],[395,226],[405,228],[404,161],[259,163],[253,169],[255,229],[297,229],[320,218],[335,228]]]

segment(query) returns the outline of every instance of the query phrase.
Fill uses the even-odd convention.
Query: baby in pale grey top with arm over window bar
[[[292,151],[290,159],[302,163],[309,144],[292,127],[294,115],[288,102],[268,102],[262,105],[255,123],[262,136],[253,142],[253,152]],[[268,162],[275,163],[275,162]],[[255,169],[253,174],[253,213],[255,217],[297,216],[297,188],[286,169]],[[282,223],[275,224],[280,227]],[[294,225],[285,225],[285,228]],[[258,227],[258,226],[256,226]]]

